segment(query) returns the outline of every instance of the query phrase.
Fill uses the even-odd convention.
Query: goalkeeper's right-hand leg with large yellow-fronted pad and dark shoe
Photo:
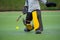
[[[37,34],[40,34],[43,31],[41,11],[40,10],[33,11],[32,17],[34,21],[34,30],[36,31]]]

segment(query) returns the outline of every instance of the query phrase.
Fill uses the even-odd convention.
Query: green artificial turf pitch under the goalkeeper
[[[42,11],[43,32],[24,32],[23,15],[19,22],[17,17],[22,12],[0,12],[0,40],[60,40],[60,12]],[[19,26],[19,30],[15,27]]]

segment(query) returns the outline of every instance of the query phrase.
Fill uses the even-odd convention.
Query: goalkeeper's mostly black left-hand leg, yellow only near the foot
[[[33,29],[33,26],[30,24],[31,21],[32,21],[32,13],[28,12],[26,20],[23,20],[23,23],[26,26],[26,28],[24,29],[25,32],[30,32]]]

